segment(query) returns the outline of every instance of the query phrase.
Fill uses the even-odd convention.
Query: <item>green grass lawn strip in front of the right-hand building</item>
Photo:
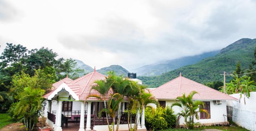
[[[199,128],[195,128],[194,130],[187,130],[187,129],[165,129],[161,131],[200,131],[203,129],[218,129],[223,131],[249,131],[245,128],[242,128],[240,126],[202,126]]]

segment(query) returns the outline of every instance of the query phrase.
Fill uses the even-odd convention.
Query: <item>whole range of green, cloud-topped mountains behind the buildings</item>
[[[145,65],[134,69],[137,78],[149,87],[158,87],[165,82],[176,78],[180,72],[182,76],[196,82],[206,84],[210,81],[223,81],[223,72],[233,73],[236,64],[241,61],[241,67],[247,69],[255,59],[254,49],[256,39],[243,38],[235,41],[220,51],[206,52],[197,56],[182,57],[155,64]],[[93,68],[76,60],[78,67],[85,70],[85,73],[93,71]],[[114,70],[117,75],[126,76],[128,70],[119,65],[104,67],[97,72],[107,74],[109,70]],[[83,74],[81,74],[83,75]],[[138,76],[140,75],[140,76]],[[143,76],[144,75],[144,76]],[[226,82],[232,77],[227,76]]]

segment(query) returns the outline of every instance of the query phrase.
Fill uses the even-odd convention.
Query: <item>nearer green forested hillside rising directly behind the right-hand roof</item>
[[[181,67],[160,76],[138,76],[138,79],[149,87],[158,87],[176,78],[181,72],[182,76],[202,84],[222,81],[223,75],[220,74],[223,74],[223,71],[233,73],[239,61],[242,68],[249,67],[254,60],[255,46],[256,39],[243,38],[223,48],[216,56],[205,58],[196,64]],[[228,82],[231,77],[226,79]]]

